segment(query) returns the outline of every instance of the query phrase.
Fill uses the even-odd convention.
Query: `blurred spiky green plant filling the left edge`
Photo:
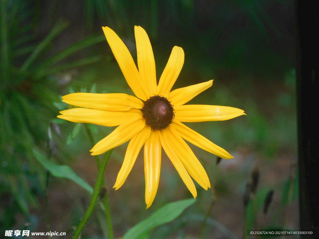
[[[39,147],[51,155],[54,145],[48,139],[48,130],[50,120],[58,113],[52,102],[60,101],[57,82],[49,76],[99,61],[100,56],[90,56],[60,63],[104,40],[104,36],[91,36],[50,55],[52,41],[69,23],[58,21],[39,41],[34,34],[37,10],[27,1],[1,1],[0,188],[9,205],[5,205],[2,218],[6,219],[0,219],[0,228],[10,228],[16,212],[28,216],[30,206],[39,208],[36,196],[43,193],[45,172],[36,163],[32,150]]]

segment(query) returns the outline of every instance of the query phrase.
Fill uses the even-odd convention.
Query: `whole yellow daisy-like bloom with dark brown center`
[[[90,150],[92,155],[103,154],[130,140],[122,168],[116,178],[115,190],[125,182],[144,145],[146,208],[152,205],[159,185],[162,147],[196,198],[197,191],[192,178],[205,190],[210,187],[210,182],[202,164],[184,140],[221,158],[233,157],[181,122],[229,120],[245,114],[244,111],[227,106],[184,105],[211,87],[213,81],[171,91],[184,63],[184,51],[181,47],[173,47],[157,85],[152,46],[145,30],[140,26],[134,28],[137,70],[122,40],[109,27],[102,28],[115,59],[136,97],[122,93],[69,94],[62,97],[64,102],[85,108],[64,110],[58,117],[77,123],[118,126]]]

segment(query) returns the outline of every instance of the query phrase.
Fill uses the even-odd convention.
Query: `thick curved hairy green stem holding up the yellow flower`
[[[92,194],[92,198],[91,198],[89,207],[86,209],[86,212],[85,212],[82,220],[80,221],[80,224],[78,225],[77,229],[75,230],[75,232],[72,236],[72,239],[78,238],[78,236],[80,235],[81,231],[83,230],[86,222],[89,220],[89,218],[93,212],[94,206],[99,198],[99,193],[100,193],[100,188],[101,188],[101,184],[103,181],[105,167],[108,163],[108,159],[110,158],[112,151],[113,151],[113,149],[110,149],[110,150],[108,150],[108,152],[105,153],[103,161],[101,162],[100,167],[99,167],[99,173],[98,173],[98,177],[96,179],[96,183],[94,186],[94,190],[93,190],[93,194]],[[107,209],[105,209],[105,210],[107,210]]]

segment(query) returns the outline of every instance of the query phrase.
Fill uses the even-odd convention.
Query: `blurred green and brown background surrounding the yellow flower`
[[[152,230],[150,238],[244,238],[245,229],[299,228],[292,0],[0,3],[1,238],[5,230],[24,228],[67,232],[64,238],[70,238],[85,213],[90,195],[73,181],[52,176],[33,150],[94,186],[97,166],[87,132],[97,142],[114,128],[56,116],[70,107],[61,101],[69,93],[132,94],[102,26],[120,36],[135,61],[134,25],[142,26],[158,79],[172,48],[182,47],[185,63],[173,89],[214,79],[188,104],[232,106],[247,114],[187,124],[234,159],[220,160],[190,145],[212,188],[197,185],[196,203]],[[142,152],[125,184],[112,189],[126,147],[115,148],[105,171],[115,238],[166,203],[192,197],[165,153],[149,209]],[[106,231],[97,207],[81,237],[107,238]]]

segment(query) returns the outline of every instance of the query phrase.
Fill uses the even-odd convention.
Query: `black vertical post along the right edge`
[[[300,230],[319,229],[318,1],[295,0]],[[319,236],[319,235],[318,235]],[[306,237],[305,237],[306,238]],[[309,238],[309,237],[307,237]]]

